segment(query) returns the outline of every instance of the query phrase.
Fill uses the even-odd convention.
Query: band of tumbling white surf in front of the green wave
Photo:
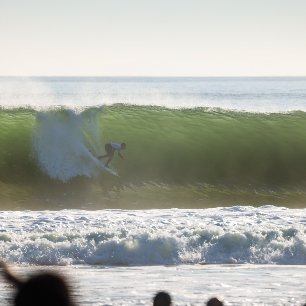
[[[2,211],[0,250],[19,265],[306,263],[304,209]]]

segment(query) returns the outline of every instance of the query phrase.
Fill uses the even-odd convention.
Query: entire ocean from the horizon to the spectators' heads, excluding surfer
[[[0,255],[80,305],[301,305],[305,138],[306,77],[0,77]]]

